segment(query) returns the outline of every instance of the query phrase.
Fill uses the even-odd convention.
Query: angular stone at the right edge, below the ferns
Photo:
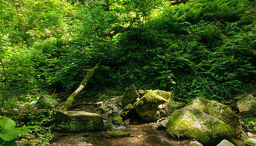
[[[256,99],[251,94],[237,101],[236,104],[243,117],[256,116]]]

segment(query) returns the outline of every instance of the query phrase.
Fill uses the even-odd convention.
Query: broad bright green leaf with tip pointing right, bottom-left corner
[[[6,141],[10,141],[15,139],[18,135],[25,133],[21,130],[18,129],[7,129],[7,130],[2,130],[2,133],[0,133],[0,138]]]

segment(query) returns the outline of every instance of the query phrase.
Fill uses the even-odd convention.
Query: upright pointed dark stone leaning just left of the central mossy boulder
[[[133,104],[135,100],[139,97],[139,94],[134,86],[131,85],[124,93],[122,99],[122,109],[126,107],[128,104]]]

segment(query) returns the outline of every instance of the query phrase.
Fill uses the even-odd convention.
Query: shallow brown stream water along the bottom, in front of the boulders
[[[116,126],[114,130],[130,131],[128,137],[112,138],[109,132],[82,132],[57,137],[52,146],[188,146],[189,141],[167,137],[164,130],[157,130],[154,124]],[[63,145],[63,143],[65,145]],[[91,145],[89,145],[91,144]]]

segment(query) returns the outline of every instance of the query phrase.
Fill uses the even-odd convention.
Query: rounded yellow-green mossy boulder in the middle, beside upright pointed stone
[[[168,100],[173,98],[171,92],[145,91],[143,96],[134,103],[135,111],[145,122],[157,122],[172,112]]]

